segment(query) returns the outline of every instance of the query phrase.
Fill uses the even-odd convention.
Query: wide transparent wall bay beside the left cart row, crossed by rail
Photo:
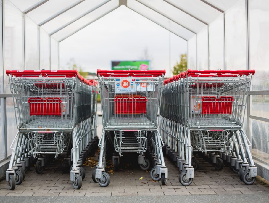
[[[4,92],[10,93],[7,69],[24,70],[24,15],[10,1],[4,1]],[[7,98],[7,156],[17,133],[13,99]]]

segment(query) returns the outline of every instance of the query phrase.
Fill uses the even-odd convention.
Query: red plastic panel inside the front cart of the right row
[[[201,114],[232,114],[232,96],[203,96]]]

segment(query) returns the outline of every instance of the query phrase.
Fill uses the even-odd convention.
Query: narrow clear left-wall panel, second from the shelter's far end
[[[40,70],[50,70],[50,50],[49,50],[49,34],[46,33],[42,28],[39,31],[40,39]]]

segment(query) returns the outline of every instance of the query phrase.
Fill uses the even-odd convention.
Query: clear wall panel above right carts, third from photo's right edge
[[[224,32],[223,32],[223,16],[208,25],[209,36],[209,68],[223,69],[224,67]]]

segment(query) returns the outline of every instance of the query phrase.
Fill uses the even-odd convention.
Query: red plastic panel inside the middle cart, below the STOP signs
[[[114,114],[145,114],[146,97],[116,97],[114,101]]]

